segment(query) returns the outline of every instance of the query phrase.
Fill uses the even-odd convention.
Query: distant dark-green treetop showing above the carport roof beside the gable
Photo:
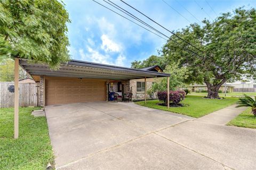
[[[141,68],[155,66],[155,65],[158,65],[162,69],[165,69],[166,64],[164,62],[163,56],[151,55],[149,56],[148,59],[143,61],[135,60],[131,63],[131,68],[141,69]]]

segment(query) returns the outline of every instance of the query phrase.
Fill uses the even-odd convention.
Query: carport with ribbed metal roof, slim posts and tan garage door
[[[47,64],[33,60],[15,58],[14,68],[14,138],[18,138],[19,127],[19,65],[25,69],[36,82],[40,84],[39,101],[42,107],[54,104],[68,104],[78,102],[106,101],[106,83],[120,80],[126,85],[130,79],[145,79],[167,77],[167,92],[169,95],[170,74],[162,72],[140,70],[107,64],[71,60],[60,64],[58,70],[51,70]],[[104,88],[104,89],[102,89]],[[145,87],[145,103],[147,88]],[[169,107],[169,98],[168,98]]]

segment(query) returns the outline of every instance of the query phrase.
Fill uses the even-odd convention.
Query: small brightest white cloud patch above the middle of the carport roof
[[[107,35],[103,34],[100,38],[102,41],[102,50],[105,52],[121,52],[121,45],[111,41]]]

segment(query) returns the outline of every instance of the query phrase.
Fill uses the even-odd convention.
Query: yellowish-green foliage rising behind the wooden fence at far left
[[[30,77],[25,70],[19,67],[19,79]],[[14,61],[6,59],[0,62],[0,82],[14,81]]]

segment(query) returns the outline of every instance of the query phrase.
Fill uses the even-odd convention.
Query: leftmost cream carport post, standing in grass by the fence
[[[19,59],[14,60],[14,139],[19,137]]]

